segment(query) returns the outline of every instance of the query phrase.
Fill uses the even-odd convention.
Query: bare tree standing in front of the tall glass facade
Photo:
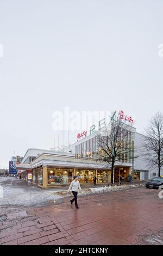
[[[114,168],[117,161],[129,162],[134,158],[134,139],[132,126],[121,119],[112,119],[110,127],[105,128],[96,138],[97,159],[106,162],[111,167],[111,184],[113,183]]]

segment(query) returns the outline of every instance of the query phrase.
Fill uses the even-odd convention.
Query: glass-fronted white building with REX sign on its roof
[[[103,127],[105,129],[105,127]],[[23,179],[30,180],[32,184],[41,188],[67,186],[78,175],[81,184],[93,183],[93,176],[97,177],[97,184],[109,184],[111,182],[111,166],[106,162],[98,161],[96,137],[103,131],[83,132],[78,135],[77,142],[71,145],[71,153],[57,153],[52,150],[28,149],[21,164],[17,166],[21,170]],[[135,127],[130,126],[127,140],[133,147],[133,152],[124,154],[123,161],[115,163],[114,182],[128,181],[128,176],[134,172],[134,180],[148,180],[157,173],[147,167],[141,153],[135,148],[142,143],[142,135],[136,132]],[[136,154],[136,155],[135,155]]]

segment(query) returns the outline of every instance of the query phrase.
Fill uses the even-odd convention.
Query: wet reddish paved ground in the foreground
[[[1,245],[163,245],[163,199],[145,187],[1,209]]]

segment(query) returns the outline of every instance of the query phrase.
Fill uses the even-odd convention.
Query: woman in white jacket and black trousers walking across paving
[[[73,196],[74,198],[72,200],[70,200],[71,204],[73,204],[73,202],[75,202],[76,205],[76,209],[79,209],[78,207],[78,190],[82,191],[82,188],[80,187],[80,183],[78,180],[78,176],[73,176],[73,181],[71,181],[70,187],[68,188],[68,192],[70,192],[70,190],[72,190]]]

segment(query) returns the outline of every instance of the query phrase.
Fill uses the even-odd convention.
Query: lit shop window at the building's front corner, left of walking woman
[[[48,168],[48,185],[70,184],[73,176],[73,169]]]

